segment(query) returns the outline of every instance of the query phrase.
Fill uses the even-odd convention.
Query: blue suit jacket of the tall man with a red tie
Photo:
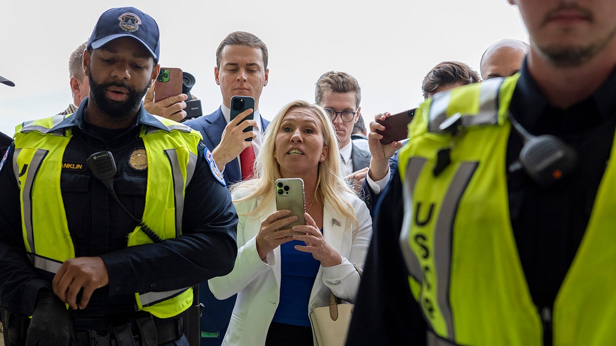
[[[261,128],[263,131],[269,125],[269,121],[261,117]],[[222,131],[227,126],[227,120],[222,114],[219,107],[214,113],[185,122],[187,126],[201,132],[203,143],[209,150],[214,150],[221,143]],[[221,167],[219,167],[221,168]],[[241,181],[240,163],[237,158],[227,163],[222,172],[222,176],[227,182],[227,186],[232,183]],[[218,346],[222,343],[229,326],[229,320],[233,312],[233,305],[237,295],[229,297],[225,300],[218,300],[211,291],[209,291],[208,282],[199,284],[199,302],[204,305],[201,313],[201,345],[202,346]],[[205,334],[204,334],[205,332]]]

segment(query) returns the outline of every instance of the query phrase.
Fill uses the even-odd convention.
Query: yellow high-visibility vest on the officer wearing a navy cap
[[[60,174],[71,129],[51,131],[65,116],[26,122],[15,133],[14,173],[20,187],[22,231],[34,267],[55,273],[75,257]],[[162,239],[181,234],[185,188],[197,163],[201,135],[189,127],[157,117],[168,131],[143,126],[140,137],[147,155],[147,190],[142,219]],[[128,246],[152,243],[137,226]],[[176,316],[192,304],[192,288],[135,293],[136,305],[158,318]]]

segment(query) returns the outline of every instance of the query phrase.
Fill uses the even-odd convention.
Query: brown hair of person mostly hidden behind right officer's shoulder
[[[463,62],[447,61],[440,62],[426,74],[421,91],[424,99],[431,97],[442,86],[451,84],[471,84],[479,82],[479,74]]]

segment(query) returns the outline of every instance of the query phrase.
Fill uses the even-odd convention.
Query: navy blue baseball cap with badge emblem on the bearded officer
[[[158,63],[160,54],[158,24],[154,18],[135,7],[116,7],[100,15],[87,41],[87,49],[99,49],[113,39],[126,36],[139,40],[150,51],[154,62]]]

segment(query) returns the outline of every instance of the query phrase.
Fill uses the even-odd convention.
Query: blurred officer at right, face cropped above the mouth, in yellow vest
[[[616,344],[616,2],[509,2],[530,52],[419,108],[347,345]]]

